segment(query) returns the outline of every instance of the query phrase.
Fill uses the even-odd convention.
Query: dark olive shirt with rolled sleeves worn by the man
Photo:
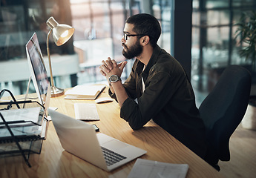
[[[134,130],[153,119],[203,158],[206,153],[205,128],[183,67],[159,46],[154,48],[148,65],[142,71],[143,67],[144,64],[136,59],[130,76],[123,84],[129,98],[123,103],[120,116]],[[115,95],[111,97],[116,99]]]

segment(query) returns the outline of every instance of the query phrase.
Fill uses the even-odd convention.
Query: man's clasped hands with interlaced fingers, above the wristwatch
[[[102,76],[105,76],[106,79],[108,79],[112,75],[117,75],[121,77],[122,71],[126,64],[126,61],[117,64],[114,59],[108,57],[107,60],[102,60],[102,65],[99,66],[99,72],[102,74]]]

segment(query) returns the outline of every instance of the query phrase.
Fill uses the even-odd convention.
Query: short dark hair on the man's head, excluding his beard
[[[161,27],[154,16],[147,13],[140,13],[129,17],[126,23],[134,24],[133,31],[135,33],[148,35],[152,47],[157,45],[157,40],[161,35]]]

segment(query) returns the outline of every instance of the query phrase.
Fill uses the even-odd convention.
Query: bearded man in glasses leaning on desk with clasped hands
[[[203,158],[205,128],[194,91],[180,63],[157,45],[159,22],[154,16],[137,14],[126,20],[123,33],[123,56],[136,57],[128,79],[123,84],[120,79],[127,62],[116,64],[108,58],[99,67],[109,81],[110,96],[119,102],[121,118],[134,130],[153,119]]]

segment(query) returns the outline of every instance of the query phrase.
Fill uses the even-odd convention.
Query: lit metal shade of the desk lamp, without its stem
[[[68,24],[59,24],[53,17],[50,17],[46,24],[53,30],[53,41],[57,46],[68,42],[75,31],[75,29]]]

